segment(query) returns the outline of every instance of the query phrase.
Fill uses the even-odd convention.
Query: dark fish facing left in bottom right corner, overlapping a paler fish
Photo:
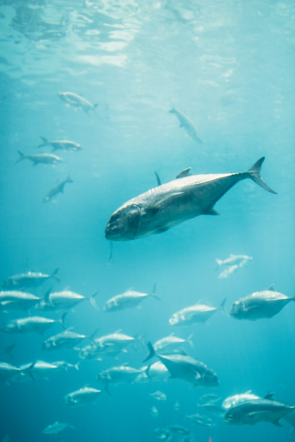
[[[277,427],[283,427],[279,420],[293,410],[295,407],[276,400],[265,398],[247,400],[231,407],[224,415],[224,422],[231,425],[255,425],[259,422],[271,422]]]

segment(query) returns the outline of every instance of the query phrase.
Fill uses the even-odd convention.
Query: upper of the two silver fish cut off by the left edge
[[[0,310],[28,310],[41,298],[32,293],[19,292],[17,290],[0,291]]]

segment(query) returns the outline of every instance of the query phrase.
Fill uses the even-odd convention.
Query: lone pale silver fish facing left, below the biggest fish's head
[[[155,297],[158,301],[160,298],[155,293],[156,284],[154,285],[152,293],[140,293],[134,290],[127,290],[124,293],[116,295],[109,299],[103,306],[104,312],[123,310],[127,308],[137,307],[147,297]]]

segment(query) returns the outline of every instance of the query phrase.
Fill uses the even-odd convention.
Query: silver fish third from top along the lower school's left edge
[[[65,313],[66,314],[66,313]],[[60,319],[50,319],[43,316],[28,316],[27,318],[11,319],[0,326],[7,333],[43,333],[54,324],[64,324],[65,315]]]

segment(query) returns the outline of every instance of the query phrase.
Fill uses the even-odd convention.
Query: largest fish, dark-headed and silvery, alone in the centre
[[[111,241],[136,240],[199,215],[219,215],[215,203],[239,181],[250,178],[276,194],[260,176],[264,156],[247,172],[192,175],[190,168],[169,183],[125,202],[110,217],[105,237]]]

